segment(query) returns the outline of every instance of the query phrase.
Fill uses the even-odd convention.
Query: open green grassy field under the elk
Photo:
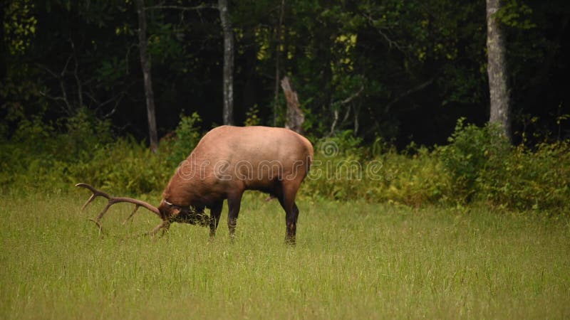
[[[231,243],[84,192],[0,196],[1,319],[570,317],[570,220],[487,208],[300,199],[296,247],[277,201],[244,198]]]

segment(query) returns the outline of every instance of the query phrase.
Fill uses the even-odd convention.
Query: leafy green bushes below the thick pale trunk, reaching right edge
[[[570,206],[568,142],[512,147],[497,127],[465,125],[460,119],[439,159],[451,179],[450,199],[485,201],[517,210]]]

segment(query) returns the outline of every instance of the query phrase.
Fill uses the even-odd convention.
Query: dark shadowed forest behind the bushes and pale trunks
[[[569,134],[570,2],[505,0],[514,142]],[[198,112],[222,124],[217,1],[143,1],[159,137]],[[34,117],[88,110],[115,134],[147,137],[135,1],[10,0],[0,60],[1,134]],[[489,119],[485,1],[229,1],[234,122],[283,125],[291,78],[315,137],[445,144],[459,117]],[[70,118],[71,117],[71,118]],[[70,124],[71,125],[71,124]],[[535,137],[536,136],[536,137]]]

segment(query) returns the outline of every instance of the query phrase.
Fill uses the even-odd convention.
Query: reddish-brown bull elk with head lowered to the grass
[[[133,198],[113,197],[103,191],[88,188],[93,195],[81,210],[96,197],[108,199],[107,206],[93,221],[101,228],[100,220],[115,203],[133,203],[155,213],[162,222],[148,234],[164,233],[170,223],[209,225],[213,237],[227,199],[227,225],[234,235],[239,206],[246,190],[269,193],[279,199],[286,214],[286,242],[294,243],[299,208],[295,196],[309,172],[313,146],[305,137],[284,128],[222,126],[208,132],[183,161],[162,193],[157,207]],[[204,209],[209,208],[209,216]],[[125,220],[126,222],[126,220]]]

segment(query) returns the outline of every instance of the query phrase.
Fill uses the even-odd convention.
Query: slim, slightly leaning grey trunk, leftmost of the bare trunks
[[[145,80],[145,98],[147,105],[148,136],[150,139],[150,150],[156,152],[158,149],[158,134],[156,130],[155,117],[155,94],[152,92],[152,79],[150,77],[150,57],[147,54],[147,18],[145,16],[145,3],[143,0],[136,0],[138,14],[138,46],[140,52],[140,66]]]

